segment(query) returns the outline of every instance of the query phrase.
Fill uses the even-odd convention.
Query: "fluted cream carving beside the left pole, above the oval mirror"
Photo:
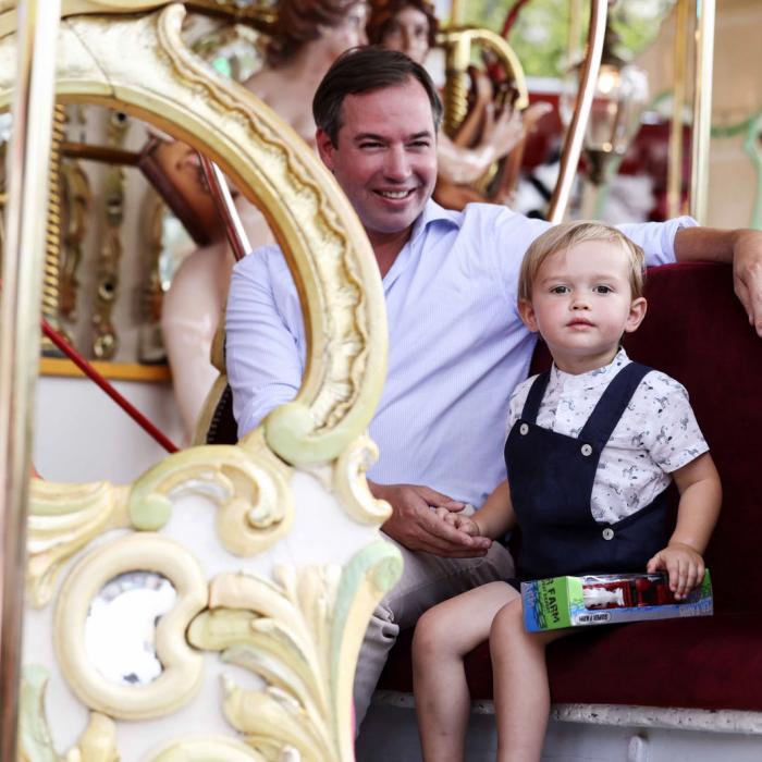
[[[108,482],[56,484],[33,479],[27,528],[26,595],[32,605],[50,602],[63,564],[94,538],[130,526],[127,488]]]

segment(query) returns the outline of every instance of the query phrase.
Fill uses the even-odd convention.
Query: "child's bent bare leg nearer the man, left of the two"
[[[518,593],[490,582],[420,617],[413,639],[413,685],[427,762],[460,762],[470,712],[463,657],[490,635],[492,618]]]

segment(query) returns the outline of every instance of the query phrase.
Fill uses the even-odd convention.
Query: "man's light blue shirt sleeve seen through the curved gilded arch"
[[[225,365],[238,437],[293,400],[302,385],[305,341],[296,287],[276,247],[233,269],[225,315]]]

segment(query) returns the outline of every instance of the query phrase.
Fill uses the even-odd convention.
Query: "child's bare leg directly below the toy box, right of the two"
[[[567,631],[527,632],[520,598],[494,617],[490,653],[497,723],[497,762],[538,762],[548,727],[548,643]]]

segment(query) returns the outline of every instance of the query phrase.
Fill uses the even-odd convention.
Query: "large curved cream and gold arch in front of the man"
[[[157,4],[90,3],[94,11]],[[291,464],[331,460],[365,430],[381,394],[378,268],[330,173],[274,112],[185,47],[184,15],[181,3],[132,17],[67,15],[57,97],[119,108],[202,148],[261,209],[295,273],[310,339],[299,394],[266,420],[266,439]],[[14,42],[0,39],[0,110],[14,83]]]

